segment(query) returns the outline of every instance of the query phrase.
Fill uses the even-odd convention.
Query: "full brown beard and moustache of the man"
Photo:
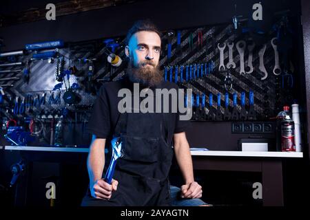
[[[145,87],[155,87],[163,81],[163,73],[153,61],[143,61],[139,63],[138,67],[134,67],[132,59],[130,59],[127,74],[133,83],[141,83]]]

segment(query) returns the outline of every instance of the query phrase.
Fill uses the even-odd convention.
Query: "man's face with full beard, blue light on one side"
[[[132,80],[148,86],[160,83],[161,38],[156,32],[136,32],[125,47],[125,54],[130,58],[128,69]]]

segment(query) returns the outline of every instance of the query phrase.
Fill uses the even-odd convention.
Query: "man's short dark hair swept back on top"
[[[127,33],[126,36],[126,43],[128,45],[130,39],[132,38],[132,35],[136,34],[136,32],[142,32],[142,31],[147,31],[147,32],[156,32],[158,36],[161,38],[161,32],[158,30],[156,25],[152,23],[149,19],[146,20],[139,20],[134,23],[132,28]]]

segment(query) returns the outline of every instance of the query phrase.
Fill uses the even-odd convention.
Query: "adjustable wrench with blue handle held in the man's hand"
[[[121,137],[114,137],[111,141],[111,144],[112,144],[112,158],[104,178],[108,184],[111,184],[112,182],[116,160],[122,157],[123,155],[121,152],[122,151]]]

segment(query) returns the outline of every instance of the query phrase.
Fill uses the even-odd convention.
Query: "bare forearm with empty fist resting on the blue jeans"
[[[189,151],[189,144],[185,132],[174,134],[174,153],[185,181],[185,185],[181,186],[181,196],[185,198],[202,197],[202,187],[194,181],[192,155]]]

